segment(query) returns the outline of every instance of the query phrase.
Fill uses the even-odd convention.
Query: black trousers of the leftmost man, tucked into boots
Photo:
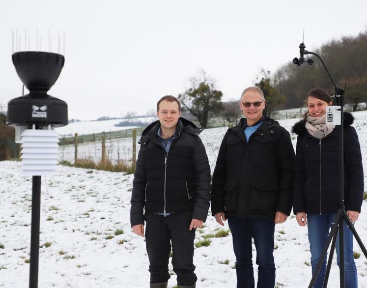
[[[170,278],[169,254],[172,242],[172,265],[178,285],[192,285],[194,273],[195,229],[189,230],[192,212],[178,212],[163,217],[145,213],[145,243],[149,257],[150,283],[163,283]]]

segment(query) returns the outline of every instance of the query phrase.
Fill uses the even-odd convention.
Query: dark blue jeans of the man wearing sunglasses
[[[228,225],[236,256],[237,288],[255,287],[252,238],[258,265],[257,288],[274,288],[274,222],[257,217],[240,218],[232,215],[228,218]]]

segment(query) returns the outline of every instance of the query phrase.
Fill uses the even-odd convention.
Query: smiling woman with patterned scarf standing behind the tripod
[[[292,132],[298,135],[294,175],[293,212],[300,226],[308,224],[312,274],[316,270],[329,230],[339,209],[339,130],[326,123],[326,108],[332,105],[328,92],[311,89],[306,98],[308,111]],[[358,220],[363,201],[364,175],[361,148],[353,116],[344,113],[344,204],[352,223]],[[336,243],[339,265],[339,235]],[[345,287],[357,288],[353,258],[353,234],[344,221]],[[321,288],[326,257],[314,288]]]

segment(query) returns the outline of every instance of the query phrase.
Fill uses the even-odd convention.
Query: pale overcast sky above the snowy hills
[[[366,0],[4,0],[0,9],[0,103],[22,93],[11,61],[12,32],[20,51],[63,54],[49,94],[67,102],[69,119],[139,114],[177,96],[205,70],[223,100],[239,98],[260,68],[274,72],[306,49],[367,29]],[[25,48],[30,36],[30,49]],[[61,38],[58,51],[58,33]],[[14,40],[15,42],[15,40]],[[15,45],[14,45],[15,46]],[[15,50],[15,47],[14,47]],[[311,87],[310,87],[311,88]]]

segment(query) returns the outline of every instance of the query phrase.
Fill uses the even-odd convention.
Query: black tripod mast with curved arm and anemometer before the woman
[[[324,278],[324,284],[323,288],[327,287],[328,280],[329,280],[329,274],[330,274],[330,268],[333,261],[333,255],[335,251],[335,244],[337,241],[337,236],[339,232],[339,271],[340,271],[340,288],[345,288],[345,278],[344,278],[344,220],[349,227],[349,229],[353,232],[354,237],[356,238],[358,245],[361,247],[363,254],[367,258],[367,251],[365,246],[363,245],[361,238],[359,237],[357,231],[354,229],[353,224],[350,222],[348,215],[345,212],[344,207],[344,124],[343,124],[343,106],[344,106],[344,90],[339,88],[335,82],[333,77],[330,75],[330,72],[328,68],[326,67],[324,61],[321,59],[319,55],[316,53],[310,52],[305,50],[306,46],[302,42],[299,45],[300,48],[300,58],[294,58],[293,63],[297,64],[298,66],[302,65],[303,63],[308,63],[309,65],[313,64],[312,59],[305,60],[304,55],[305,54],[312,54],[316,56],[324,66],[326,72],[329,75],[330,80],[332,81],[334,88],[335,88],[335,99],[334,99],[334,105],[340,106],[340,131],[339,131],[339,209],[337,216],[335,217],[333,226],[331,228],[330,234],[326,240],[325,247],[322,251],[322,254],[320,256],[320,259],[318,260],[317,267],[315,273],[312,275],[312,279],[309,285],[309,288],[312,288],[315,284],[316,278],[321,270],[322,262],[324,261],[325,256],[327,255],[329,245],[331,243],[331,249],[330,249],[330,255],[327,262],[326,267],[326,274]]]

